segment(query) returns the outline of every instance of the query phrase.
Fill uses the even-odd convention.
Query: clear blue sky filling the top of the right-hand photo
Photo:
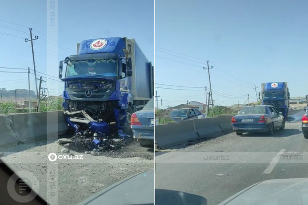
[[[305,96],[307,7],[305,0],[156,0],[155,83],[209,88],[209,60],[212,89],[232,95],[213,93],[216,105],[244,103],[247,97],[234,98],[246,94],[256,101],[254,84],[259,92],[273,81],[287,81],[291,97]],[[163,108],[205,103],[203,90],[156,90]]]

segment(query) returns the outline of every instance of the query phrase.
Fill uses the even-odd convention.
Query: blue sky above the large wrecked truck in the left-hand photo
[[[58,32],[47,33],[47,23],[50,22],[47,3],[50,2],[0,0],[0,67],[33,69],[30,42],[25,43],[23,39],[29,39],[30,27],[33,36],[39,36],[38,40],[33,41],[36,69],[52,76],[58,76],[59,61],[76,54],[77,42],[85,39],[135,38],[148,59],[154,62],[153,0],[59,0],[59,18],[55,25]],[[55,42],[57,38],[59,44]],[[57,52],[58,56],[55,55]],[[49,65],[47,59],[52,60]],[[26,70],[0,68],[0,71]],[[54,79],[45,78],[47,83],[43,84],[49,89],[50,95],[62,94],[63,83],[55,77],[46,77]],[[30,75],[30,79],[31,89],[35,90],[34,75]],[[0,72],[0,87],[28,89],[27,73]]]

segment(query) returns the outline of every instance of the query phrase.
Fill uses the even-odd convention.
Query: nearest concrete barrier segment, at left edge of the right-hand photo
[[[193,120],[155,126],[155,141],[159,148],[171,147],[194,139],[198,139],[198,135]]]

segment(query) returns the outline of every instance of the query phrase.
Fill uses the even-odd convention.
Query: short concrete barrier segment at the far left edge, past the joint
[[[8,115],[0,115],[0,147],[17,144],[17,137],[11,125],[12,121]]]

